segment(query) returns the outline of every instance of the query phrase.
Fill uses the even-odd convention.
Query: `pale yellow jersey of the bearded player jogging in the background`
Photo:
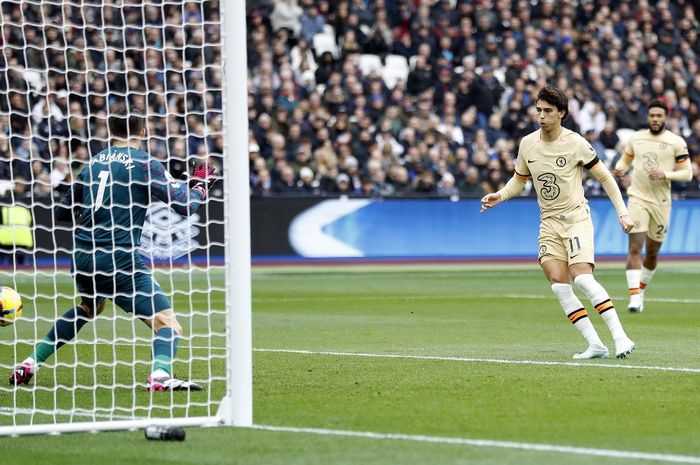
[[[671,201],[671,181],[652,181],[652,170],[673,171],[676,162],[688,155],[688,146],[682,137],[671,131],[652,134],[648,129],[637,131],[630,137],[623,157],[632,161],[632,184],[627,195],[656,204]]]

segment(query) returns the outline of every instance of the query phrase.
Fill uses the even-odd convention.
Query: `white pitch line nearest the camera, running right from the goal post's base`
[[[530,442],[495,441],[491,439],[470,439],[397,433],[373,433],[370,431],[344,431],[323,428],[295,428],[290,426],[253,425],[251,428],[264,431],[317,434],[322,436],[344,436],[364,439],[387,439],[399,441],[427,442],[432,444],[452,444],[473,447],[495,447],[499,449],[518,449],[532,452],[557,452],[562,454],[586,455],[593,457],[651,460],[656,462],[667,463],[700,464],[700,457],[694,457],[689,455],[659,454],[653,452],[636,452],[614,449],[594,449],[588,447],[558,446],[555,444],[538,444]]]

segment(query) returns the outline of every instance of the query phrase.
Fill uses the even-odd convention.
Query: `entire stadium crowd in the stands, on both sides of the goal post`
[[[251,194],[493,192],[512,175],[520,138],[538,127],[533,98],[545,83],[566,89],[566,126],[609,165],[645,127],[646,104],[664,100],[667,127],[695,156],[694,180],[674,190],[698,194],[694,5],[248,2]],[[0,189],[65,191],[107,146],[106,116],[125,99],[147,113],[148,148],[175,177],[192,157],[220,163],[218,1],[5,1],[2,19]]]

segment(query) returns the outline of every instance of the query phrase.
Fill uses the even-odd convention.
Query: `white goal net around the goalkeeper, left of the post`
[[[229,15],[241,16],[243,3],[231,2]],[[0,1],[0,285],[24,304],[22,318],[0,327],[0,435],[231,423],[222,412],[235,408],[230,341],[246,319],[232,318],[237,301],[225,266],[241,258],[231,255],[237,194],[226,180],[240,161],[224,156],[231,39],[220,9],[214,0]],[[70,268],[75,226],[57,221],[54,207],[110,146],[109,117],[125,104],[145,117],[141,150],[169,181],[186,182],[179,179],[193,162],[224,175],[190,216],[151,197],[139,250],[183,328],[173,375],[203,390],[149,391],[154,333],[111,300],[28,384],[15,386],[13,368],[80,301]],[[31,225],[10,211],[29,212]],[[29,242],[18,239],[26,231]]]

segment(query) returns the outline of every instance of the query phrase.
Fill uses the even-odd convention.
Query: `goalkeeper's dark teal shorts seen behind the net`
[[[76,247],[77,249],[77,247]],[[124,311],[149,318],[171,308],[138,252],[73,253],[73,276],[85,305],[97,308],[105,299]]]

